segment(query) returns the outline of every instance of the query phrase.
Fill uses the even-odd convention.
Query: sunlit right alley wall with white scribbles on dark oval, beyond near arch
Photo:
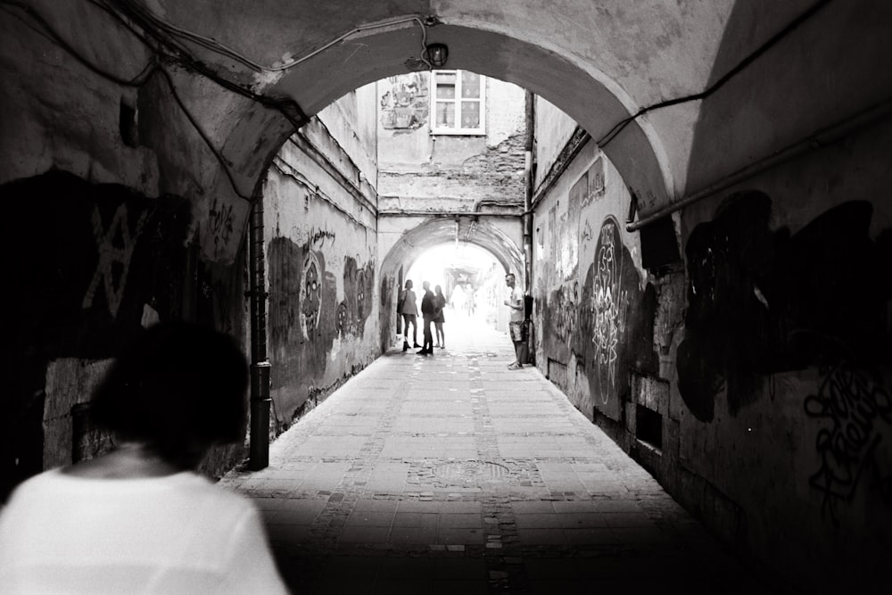
[[[588,143],[534,207],[536,366],[590,419],[621,421],[630,371],[657,371],[654,288],[638,236],[621,223],[629,200],[616,169]]]

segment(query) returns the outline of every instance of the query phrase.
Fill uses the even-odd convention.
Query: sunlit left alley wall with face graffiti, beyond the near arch
[[[326,128],[351,124],[332,122],[337,113],[344,117],[343,111],[327,113]],[[324,134],[317,127],[316,143],[286,143],[264,186],[276,432],[379,354],[374,202],[355,184],[360,171],[351,156],[335,150],[334,139],[318,142]],[[361,140],[354,148],[374,154],[368,150],[373,139]],[[342,162],[343,167],[326,168]]]

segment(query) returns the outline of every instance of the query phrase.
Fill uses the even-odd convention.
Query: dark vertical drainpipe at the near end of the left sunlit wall
[[[262,182],[254,192],[249,221],[248,268],[251,277],[251,434],[248,468],[269,466],[269,360],[267,359],[266,260],[263,254]]]

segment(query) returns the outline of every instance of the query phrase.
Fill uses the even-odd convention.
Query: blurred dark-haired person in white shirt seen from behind
[[[252,502],[194,471],[242,439],[247,384],[231,337],[150,327],[92,401],[116,450],[30,478],[0,513],[0,591],[287,592]]]

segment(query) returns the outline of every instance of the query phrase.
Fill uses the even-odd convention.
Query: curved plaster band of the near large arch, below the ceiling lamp
[[[369,82],[407,68],[425,70],[425,63],[417,59],[420,48],[424,41],[437,41],[450,47],[449,68],[472,70],[529,89],[566,112],[592,137],[611,136],[604,151],[642,210],[665,203],[673,195],[673,174],[662,141],[647,120],[629,120],[615,132],[616,124],[629,119],[639,105],[620,82],[589,60],[554,45],[541,31],[515,27],[497,31],[476,21],[422,29],[412,15],[387,22],[396,24],[373,24],[288,70],[253,77],[252,90],[293,99],[303,114],[311,115]],[[292,122],[249,100],[229,102],[226,108],[208,117],[216,122],[219,145],[233,164],[229,175],[236,186],[249,188],[292,133]],[[231,194],[228,178],[218,177],[215,192]]]

